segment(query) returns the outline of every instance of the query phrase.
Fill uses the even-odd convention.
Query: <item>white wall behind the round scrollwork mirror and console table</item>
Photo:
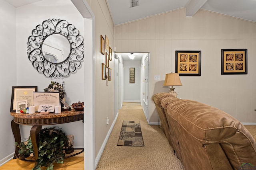
[[[86,66],[86,57],[82,61],[81,67],[70,76],[54,79],[45,77],[39,73],[28,59],[27,41],[32,35],[32,30],[36,25],[42,24],[44,20],[60,18],[73,24],[84,36],[84,19],[78,12],[74,4],[70,0],[42,0],[26,6],[16,8],[16,33],[17,33],[17,86],[38,86],[38,91],[43,92],[51,81],[62,83],[64,81],[64,89],[66,92],[66,102],[72,104],[74,102],[84,100],[84,67]],[[82,121],[55,125],[62,128],[68,134],[74,135],[74,145],[77,148],[84,147],[83,126]],[[27,138],[31,126],[20,126],[21,137]],[[44,128],[44,127],[42,127]]]

